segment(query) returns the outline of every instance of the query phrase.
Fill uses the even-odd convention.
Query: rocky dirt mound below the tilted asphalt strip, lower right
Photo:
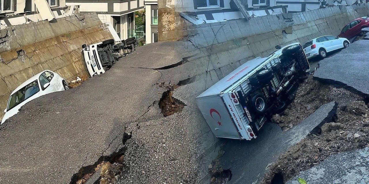
[[[272,183],[275,176],[282,176],[285,182],[334,153],[364,148],[369,144],[369,118],[361,112],[367,110],[363,101],[349,103],[344,110],[338,109],[335,122],[324,124],[320,132],[308,135],[281,155],[269,167],[261,184]]]

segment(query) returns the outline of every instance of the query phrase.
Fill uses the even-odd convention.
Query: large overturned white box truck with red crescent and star
[[[247,61],[196,102],[216,137],[250,140],[273,113],[283,112],[309,70],[301,44],[293,43]]]

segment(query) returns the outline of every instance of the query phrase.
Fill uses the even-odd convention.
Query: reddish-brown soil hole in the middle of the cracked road
[[[170,116],[176,112],[180,112],[184,106],[186,104],[173,97],[173,91],[171,90],[164,92],[159,102],[159,107],[164,116]]]

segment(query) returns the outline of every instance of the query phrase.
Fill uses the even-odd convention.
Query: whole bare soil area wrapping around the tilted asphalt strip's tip
[[[314,81],[311,77],[298,89],[295,100],[287,110],[273,116],[283,130],[288,130],[313,113],[320,105],[338,103],[334,122],[324,124],[316,134],[309,134],[268,167],[261,184],[274,184],[295,177],[328,156],[361,149],[369,144],[369,110],[364,98],[342,88]],[[277,178],[278,177],[278,178]],[[273,182],[272,182],[273,181]],[[278,181],[278,182],[276,182]]]

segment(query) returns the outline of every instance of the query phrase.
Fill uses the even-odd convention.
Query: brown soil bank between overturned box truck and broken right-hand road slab
[[[273,115],[272,121],[287,131],[325,103],[336,101],[338,108],[341,109],[349,102],[356,100],[363,100],[363,98],[346,89],[321,84],[309,76],[305,82],[300,84],[292,103],[283,113]]]

